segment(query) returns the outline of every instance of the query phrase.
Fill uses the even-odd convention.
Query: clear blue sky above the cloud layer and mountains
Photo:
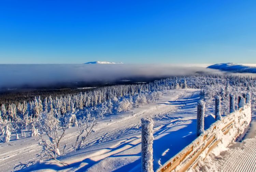
[[[256,1],[0,1],[0,63],[88,61],[256,63]]]

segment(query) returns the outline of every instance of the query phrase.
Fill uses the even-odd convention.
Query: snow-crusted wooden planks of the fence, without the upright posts
[[[232,97],[230,97],[232,98]],[[245,101],[240,98],[239,100]],[[240,104],[239,102],[239,104]],[[196,167],[198,160],[204,159],[214,148],[238,141],[245,135],[251,122],[251,104],[246,100],[243,107],[214,122],[187,147],[173,156],[157,172],[183,172]]]

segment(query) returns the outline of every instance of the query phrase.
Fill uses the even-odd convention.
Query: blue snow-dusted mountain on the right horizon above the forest
[[[238,72],[238,73],[256,73],[256,67],[244,66],[235,63],[221,63],[208,66],[207,68],[219,69],[228,72]]]

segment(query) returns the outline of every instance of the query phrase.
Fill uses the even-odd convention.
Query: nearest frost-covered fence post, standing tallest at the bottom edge
[[[141,119],[141,171],[153,172],[153,120]]]

